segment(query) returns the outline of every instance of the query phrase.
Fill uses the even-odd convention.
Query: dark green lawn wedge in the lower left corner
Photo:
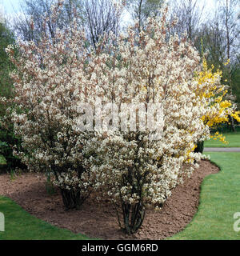
[[[0,212],[5,215],[5,232],[0,240],[86,240],[82,234],[59,229],[22,210],[9,198],[0,197]]]

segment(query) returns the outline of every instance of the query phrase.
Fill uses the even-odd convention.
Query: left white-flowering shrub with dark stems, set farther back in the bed
[[[61,4],[53,7],[53,22]],[[29,170],[50,172],[67,209],[78,208],[90,193],[89,171],[82,164],[82,148],[90,133],[74,129],[78,102],[90,90],[85,42],[74,21],[57,30],[54,39],[43,34],[38,45],[19,40],[18,58],[13,46],[6,49],[16,66],[11,74],[16,95],[11,117],[25,150],[15,154]]]

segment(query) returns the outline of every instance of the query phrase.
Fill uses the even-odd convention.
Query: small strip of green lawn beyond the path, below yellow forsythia
[[[224,144],[220,142],[219,140],[210,139],[209,141],[204,142],[205,147],[240,147],[240,132],[236,133],[226,133],[223,134],[223,136],[226,136],[226,141],[229,142],[229,144]]]

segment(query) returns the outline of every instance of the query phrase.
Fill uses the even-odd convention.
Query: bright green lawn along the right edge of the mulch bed
[[[240,212],[240,153],[214,152],[211,160],[221,172],[204,179],[200,206],[194,219],[174,240],[239,240],[233,216]]]

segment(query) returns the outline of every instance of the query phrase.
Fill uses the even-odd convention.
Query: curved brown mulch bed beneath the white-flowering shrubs
[[[191,178],[172,190],[162,210],[147,211],[141,229],[132,236],[119,229],[114,210],[107,201],[96,202],[92,196],[81,210],[64,210],[59,193],[46,193],[46,177],[42,174],[22,174],[14,180],[9,174],[1,174],[0,194],[12,198],[37,218],[90,238],[156,240],[172,236],[186,227],[198,210],[202,179],[218,171],[217,166],[202,160]]]

